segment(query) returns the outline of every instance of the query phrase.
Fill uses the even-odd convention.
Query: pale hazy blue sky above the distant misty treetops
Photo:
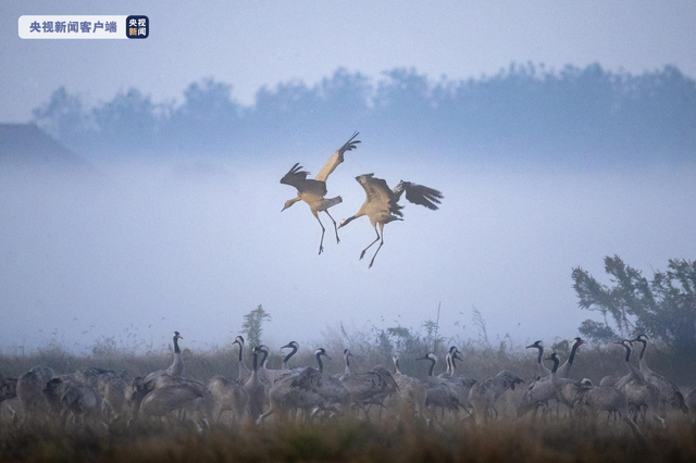
[[[22,40],[22,14],[146,14],[146,40]],[[0,122],[66,86],[89,103],[138,87],[179,98],[207,76],[250,103],[263,85],[313,83],[338,66],[371,77],[414,66],[432,78],[494,74],[510,62],[611,70],[678,65],[696,76],[694,1],[17,1],[0,3]]]

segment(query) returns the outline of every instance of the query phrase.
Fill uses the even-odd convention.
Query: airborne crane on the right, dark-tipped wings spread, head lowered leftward
[[[358,180],[365,190],[368,199],[355,215],[340,221],[338,228],[348,225],[350,222],[363,215],[370,217],[370,223],[377,237],[370,246],[362,250],[360,259],[364,258],[365,252],[372,245],[381,240],[380,247],[377,247],[377,250],[372,256],[372,261],[370,261],[370,267],[374,264],[374,259],[384,245],[384,225],[389,222],[403,220],[401,218],[403,216],[401,213],[403,207],[399,205],[399,200],[403,192],[406,192],[406,199],[413,204],[424,205],[432,211],[437,211],[436,204],[439,204],[439,200],[443,199],[442,192],[422,185],[412,184],[411,182],[401,180],[394,189],[390,189],[384,179],[375,177],[374,174],[359,175],[356,177],[356,180]],[[377,232],[377,225],[380,225],[380,232]]]

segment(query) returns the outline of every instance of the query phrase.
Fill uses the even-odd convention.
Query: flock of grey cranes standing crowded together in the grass
[[[186,375],[178,341],[178,331],[172,338],[174,359],[165,370],[146,376],[129,378],[125,371],[116,373],[99,367],[85,367],[77,372],[57,375],[50,367],[37,365],[17,378],[0,375],[0,402],[16,401],[20,422],[53,416],[62,423],[82,425],[101,422],[105,426],[125,421],[165,420],[192,422],[199,429],[220,422],[225,412],[235,424],[263,425],[276,415],[281,423],[289,420],[331,420],[356,415],[370,420],[370,409],[378,406],[399,420],[423,420],[431,426],[449,420],[481,425],[500,420],[496,402],[508,390],[523,388],[517,418],[532,412],[532,420],[554,420],[560,406],[572,420],[596,417],[606,412],[608,421],[619,418],[632,431],[641,434],[638,424],[655,423],[664,426],[672,413],[694,417],[696,388],[682,395],[664,376],[652,372],[641,355],[638,366],[631,362],[636,345],[645,353],[648,338],[617,341],[624,349],[622,355],[627,373],[618,379],[606,376],[598,386],[583,378],[571,377],[573,361],[585,341],[573,339],[567,362],[552,352],[544,356],[544,343],[538,340],[529,349],[537,349],[538,373],[525,381],[509,370],[478,380],[460,374],[457,361],[462,353],[452,346],[445,356],[447,370],[435,375],[438,362],[433,352],[417,360],[427,361],[427,377],[421,380],[405,374],[399,356],[394,355],[393,368],[375,365],[368,371],[356,371],[351,365],[350,349],[344,350],[344,372],[332,375],[324,370],[324,359],[331,356],[323,348],[314,350],[315,365],[290,367],[299,345],[290,341],[281,349],[290,349],[279,370],[268,368],[271,350],[254,346],[245,351],[245,339],[237,336],[237,377],[214,376],[207,383]],[[619,353],[619,352],[617,352]],[[251,360],[251,367],[247,360]],[[548,368],[544,361],[550,361]],[[423,372],[421,372],[423,373]],[[613,384],[608,385],[613,380]],[[9,403],[10,403],[9,402]],[[13,414],[15,411],[12,410]]]

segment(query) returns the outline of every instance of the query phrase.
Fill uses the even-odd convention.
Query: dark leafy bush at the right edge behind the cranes
[[[598,283],[586,271],[573,270],[573,288],[581,309],[600,312],[601,327],[593,321],[581,325],[581,333],[596,339],[644,333],[664,342],[672,353],[694,356],[696,342],[696,262],[670,260],[667,272],[655,272],[652,280],[614,255],[605,258],[605,270],[613,286]],[[601,329],[600,329],[601,328]]]

